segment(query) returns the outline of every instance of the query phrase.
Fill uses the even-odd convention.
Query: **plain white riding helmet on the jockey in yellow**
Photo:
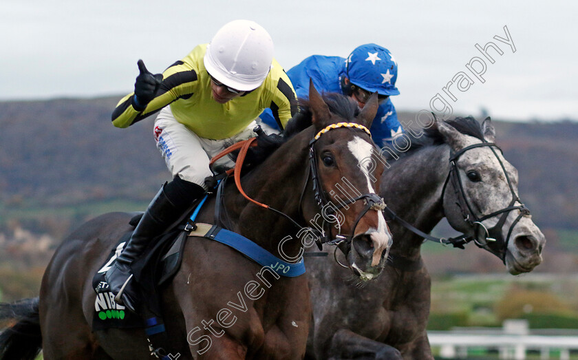
[[[217,81],[239,91],[256,89],[269,73],[273,41],[255,21],[235,20],[213,36],[204,56],[206,70]]]

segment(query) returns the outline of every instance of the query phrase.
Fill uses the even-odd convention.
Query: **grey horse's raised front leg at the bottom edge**
[[[331,340],[331,359],[403,359],[399,350],[367,337],[341,329]]]

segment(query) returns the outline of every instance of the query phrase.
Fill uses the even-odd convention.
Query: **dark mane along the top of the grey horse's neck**
[[[454,129],[460,131],[461,134],[473,136],[474,138],[478,138],[480,140],[484,140],[484,131],[482,130],[482,125],[478,123],[478,120],[475,120],[472,116],[467,116],[466,118],[457,117],[452,120],[445,120],[448,125],[451,125]],[[397,149],[389,149],[396,154],[396,156],[404,156],[417,151],[418,149],[422,149],[423,147],[431,147],[431,146],[439,146],[445,144],[445,139],[438,130],[437,127],[431,126],[427,129],[421,129],[424,134],[422,136],[416,137],[411,134],[411,132],[407,132],[406,135],[411,140],[411,145],[409,149],[405,149],[405,151],[398,151]],[[394,158],[392,153],[389,151],[383,151],[383,156],[387,159]]]

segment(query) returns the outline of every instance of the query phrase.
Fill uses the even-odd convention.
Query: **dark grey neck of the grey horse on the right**
[[[416,150],[385,169],[382,184],[385,202],[400,218],[429,233],[444,217],[442,188],[449,171],[449,147],[440,145]],[[383,186],[383,185],[382,185]],[[389,222],[394,235],[392,253],[420,256],[422,237],[398,222]]]

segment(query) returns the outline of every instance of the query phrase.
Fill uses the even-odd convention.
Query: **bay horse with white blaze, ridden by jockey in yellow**
[[[377,275],[392,237],[380,208],[367,205],[378,205],[374,200],[379,182],[370,177],[379,178],[384,167],[369,173],[360,164],[363,158],[378,156],[367,130],[377,107],[377,96],[361,112],[345,96],[324,100],[311,83],[312,126],[241,179],[250,198],[276,211],[249,202],[228,184],[223,208],[230,230],[277,257],[297,260],[303,239],[295,235],[295,224],[306,229],[323,219],[321,224],[330,226],[321,226],[321,233],[350,241],[346,257],[352,274]],[[330,211],[327,194],[337,191],[343,179],[364,195]],[[211,223],[214,207],[213,199],[197,222]],[[323,216],[317,216],[320,213]],[[118,239],[131,231],[132,216],[101,215],[58,246],[45,271],[39,301],[4,305],[0,312],[6,318],[11,311],[20,319],[3,332],[1,359],[34,359],[30,349],[40,348],[47,360],[151,357],[142,328],[96,332],[91,328],[92,276]],[[290,241],[281,242],[288,236]],[[217,242],[205,238],[186,242],[180,270],[171,284],[160,288],[160,301],[170,346],[166,350],[173,359],[176,354],[178,359],[302,359],[305,355],[311,319],[307,278],[275,277],[270,268]],[[15,348],[22,343],[23,348]]]

